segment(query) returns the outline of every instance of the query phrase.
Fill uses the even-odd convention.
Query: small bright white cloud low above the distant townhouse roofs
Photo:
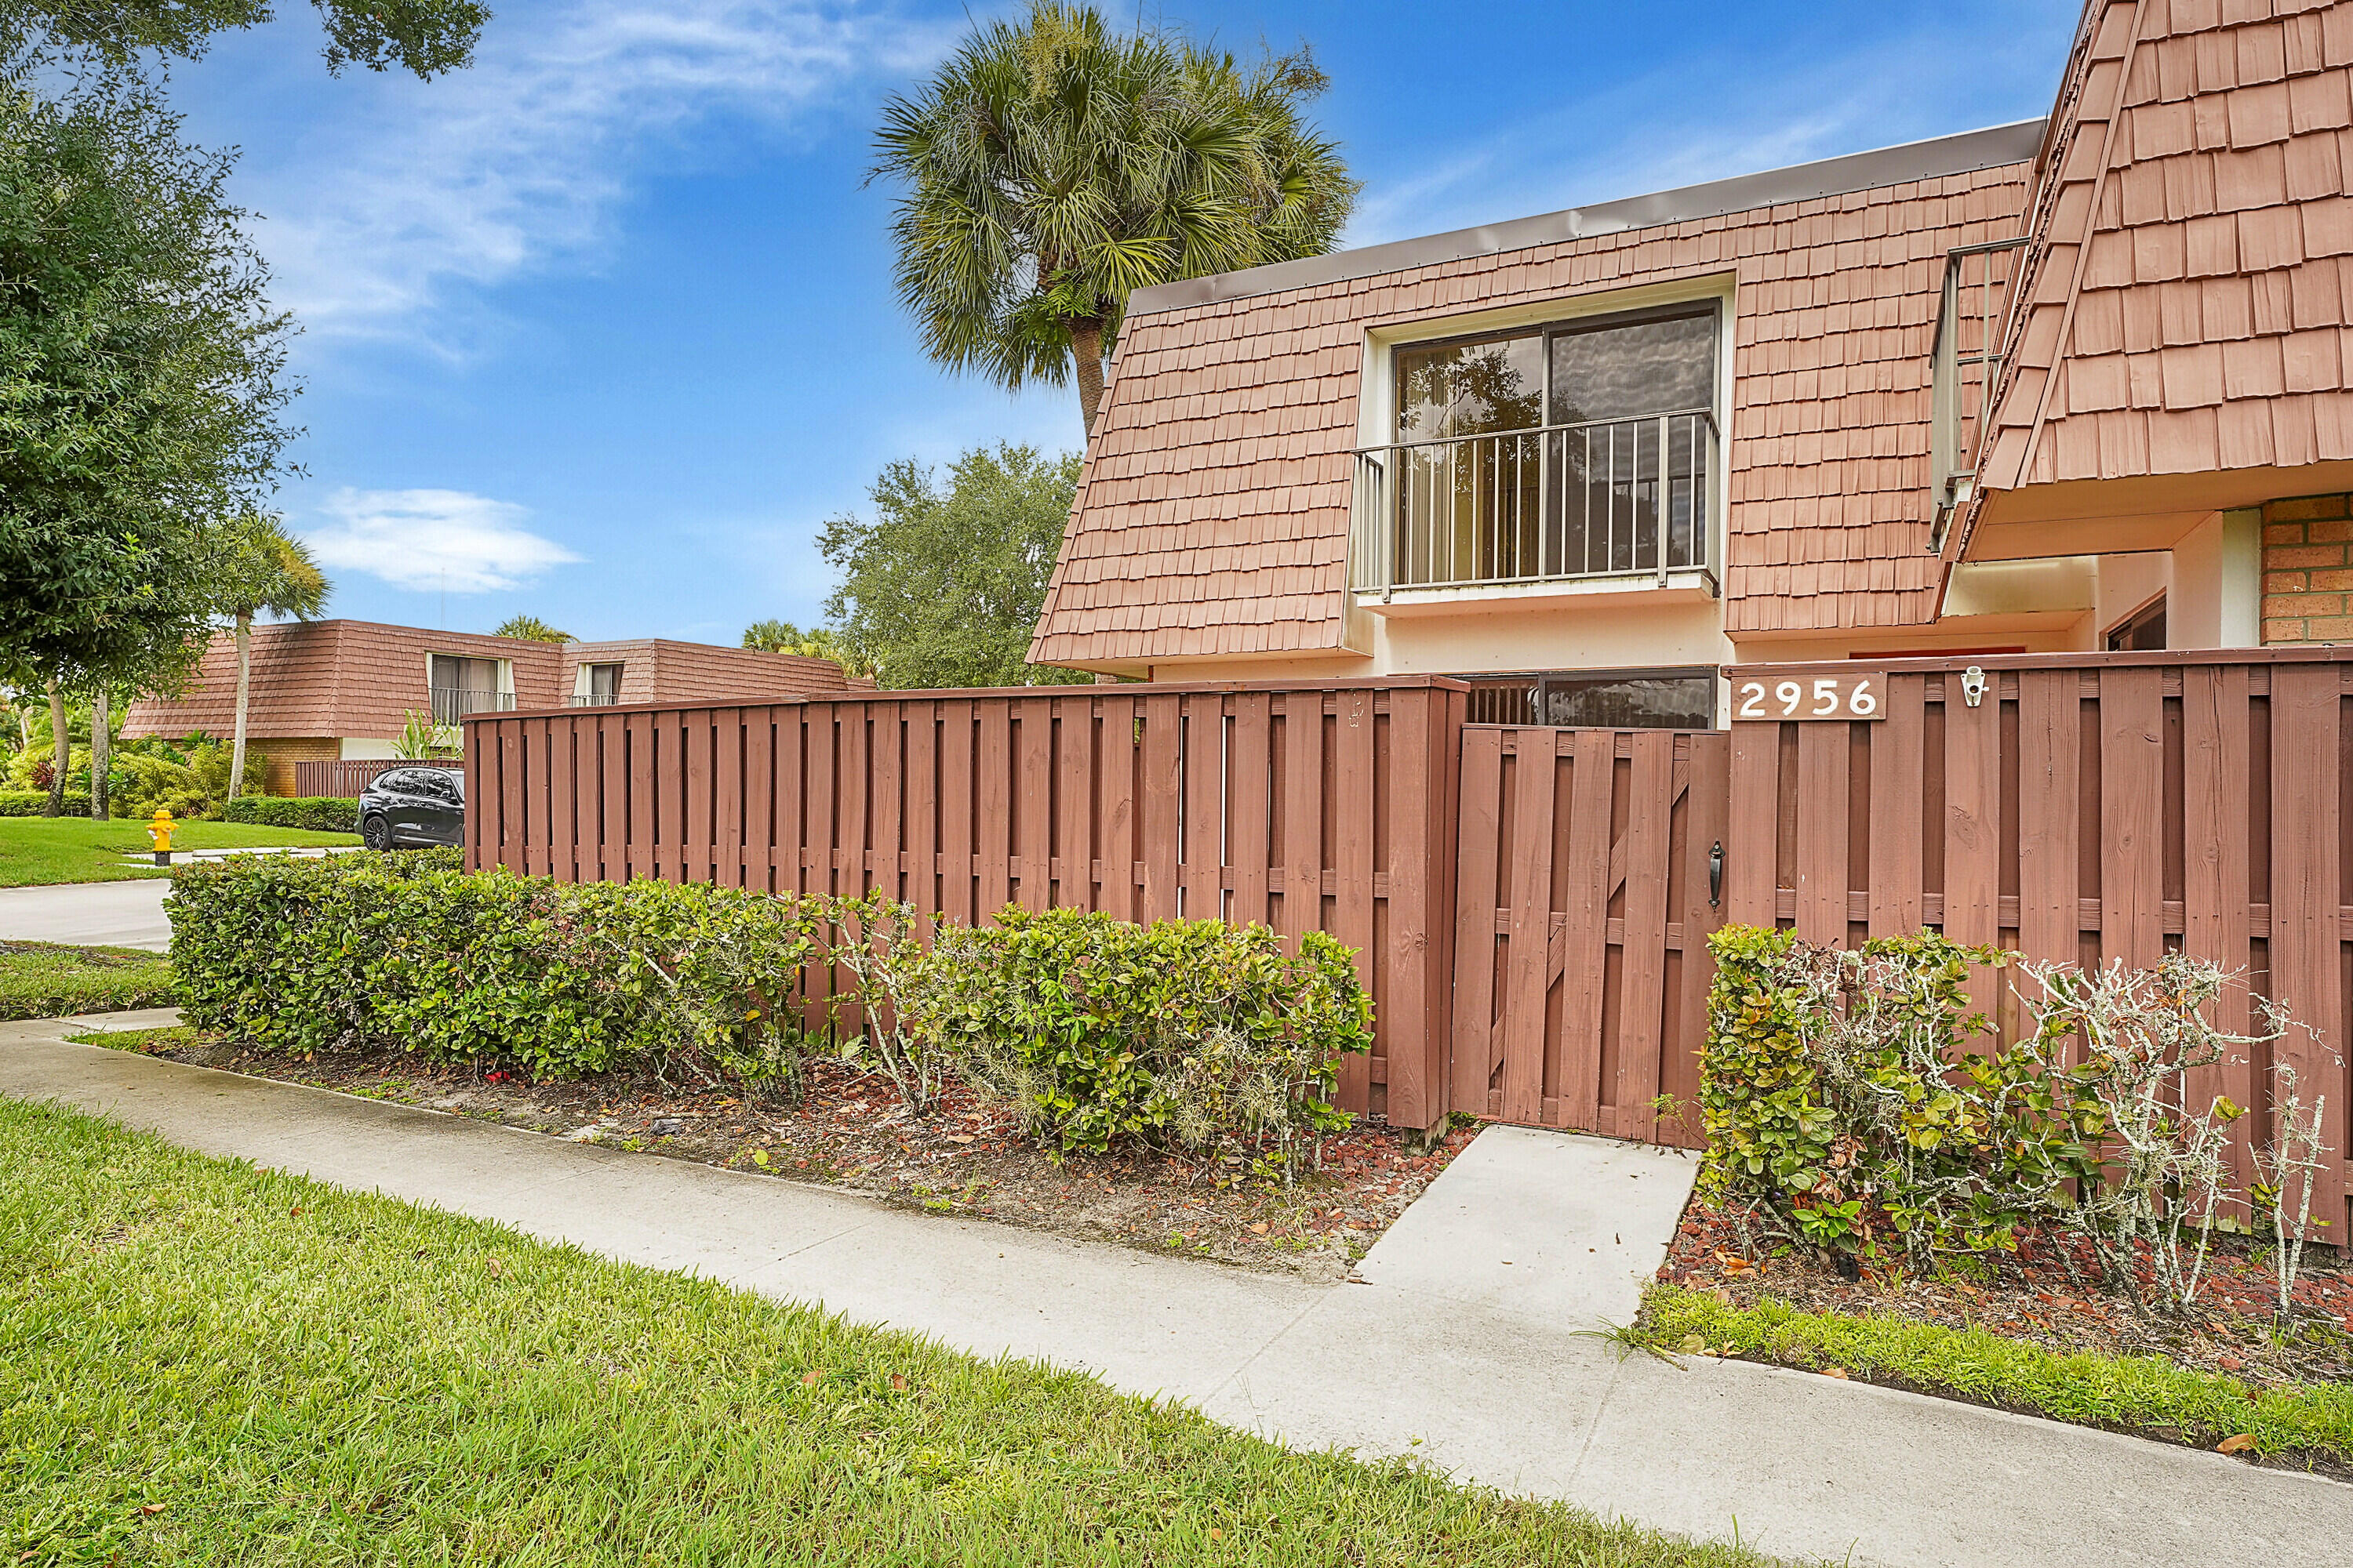
[[[318,559],[395,588],[494,592],[581,559],[522,529],[529,508],[461,489],[339,489],[325,510],[336,522],[306,536]]]

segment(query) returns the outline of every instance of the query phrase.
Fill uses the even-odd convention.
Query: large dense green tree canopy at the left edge
[[[287,317],[129,73],[0,80],[0,679],[174,684],[292,437]]]

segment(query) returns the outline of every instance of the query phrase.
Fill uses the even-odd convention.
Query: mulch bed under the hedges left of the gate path
[[[285,1058],[198,1039],[153,1056],[424,1105],[560,1138],[824,1182],[929,1213],[1002,1220],[1155,1253],[1341,1279],[1405,1206],[1471,1143],[1457,1128],[1428,1152],[1381,1121],[1327,1138],[1320,1168],[1292,1187],[1219,1187],[1198,1161],[1158,1152],[1054,1161],[1012,1114],[953,1086],[929,1119],[887,1079],[812,1063],[798,1103],[654,1079],[532,1084],[508,1072],[435,1067],[400,1051]]]

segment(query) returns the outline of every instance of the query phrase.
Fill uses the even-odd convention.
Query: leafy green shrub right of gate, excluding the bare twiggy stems
[[[1791,931],[1708,940],[1704,1192],[1866,1265],[2017,1246],[2099,1161],[2028,1046],[1972,1048],[1967,978],[2005,954],[1932,931],[1859,952]],[[2054,1103],[2057,1091],[2057,1103]]]

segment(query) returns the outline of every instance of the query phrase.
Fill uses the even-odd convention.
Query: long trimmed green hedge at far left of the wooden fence
[[[468,875],[452,849],[193,865],[169,910],[188,1023],[264,1048],[798,1074],[779,1009],[812,940],[791,900]]]

